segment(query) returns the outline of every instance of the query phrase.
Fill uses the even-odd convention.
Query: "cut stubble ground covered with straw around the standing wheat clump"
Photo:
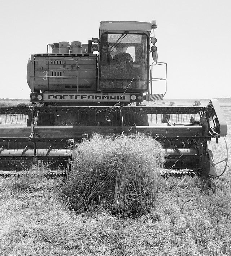
[[[230,107],[222,110],[230,157]],[[211,147],[225,157],[222,140]],[[0,179],[0,255],[231,255],[230,161],[221,178],[158,179],[154,208],[137,218],[93,207],[76,213],[60,184],[40,168]]]

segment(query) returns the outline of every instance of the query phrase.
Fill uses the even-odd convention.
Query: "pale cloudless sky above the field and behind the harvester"
[[[156,20],[158,61],[167,62],[166,99],[230,98],[230,10],[230,0],[3,1],[0,98],[29,98],[31,54],[45,53],[50,43],[88,43],[99,37],[100,21],[116,20]]]

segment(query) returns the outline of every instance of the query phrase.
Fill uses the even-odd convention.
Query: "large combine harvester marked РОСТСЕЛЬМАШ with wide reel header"
[[[32,106],[0,109],[0,173],[22,172],[39,162],[51,173],[65,173],[71,149],[82,138],[145,132],[162,142],[163,173],[217,176],[207,145],[227,134],[217,100],[204,107],[153,104],[167,90],[156,28],[154,20],[102,21],[100,39],[48,44],[47,53],[31,55]],[[157,78],[160,69],[164,76]],[[164,94],[153,93],[161,86]]]

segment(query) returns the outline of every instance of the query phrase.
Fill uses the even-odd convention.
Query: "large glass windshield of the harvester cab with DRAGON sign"
[[[145,34],[102,35],[99,56],[100,90],[148,90],[147,42]]]

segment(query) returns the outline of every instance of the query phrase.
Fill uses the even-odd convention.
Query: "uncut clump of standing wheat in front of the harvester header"
[[[128,217],[150,212],[165,157],[160,149],[150,136],[95,134],[75,151],[60,197],[74,210],[103,206]]]

